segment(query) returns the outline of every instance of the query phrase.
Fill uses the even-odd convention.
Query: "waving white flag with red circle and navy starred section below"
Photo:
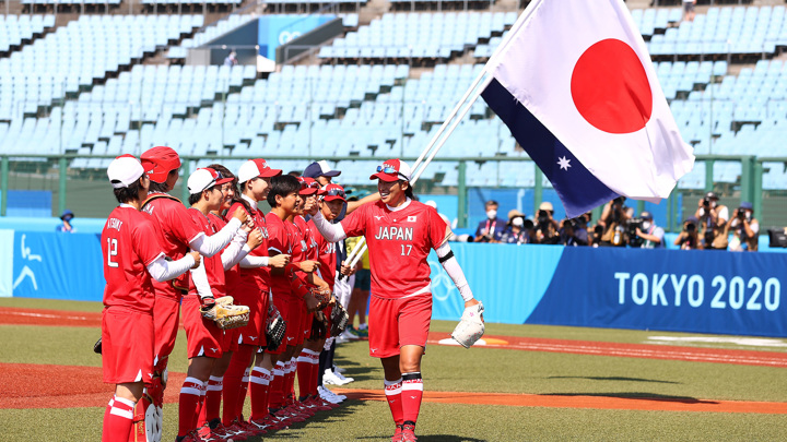
[[[561,198],[579,204],[571,212],[613,193],[668,198],[692,169],[693,150],[681,139],[623,1],[536,0],[522,15],[490,61],[494,81],[482,95],[553,184],[561,182]],[[522,131],[522,112],[559,145]],[[569,177],[572,167],[600,181],[599,191],[584,195],[584,181]],[[564,199],[564,205],[571,204]]]

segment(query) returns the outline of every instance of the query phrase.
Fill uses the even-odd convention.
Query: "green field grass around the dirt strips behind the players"
[[[0,306],[98,311],[87,302],[1,299]],[[454,323],[435,321],[449,332]],[[92,353],[98,328],[0,325],[3,362],[101,366]],[[667,334],[620,330],[489,324],[494,335],[643,343]],[[729,344],[714,345],[729,347]],[[751,349],[751,347],[748,347]],[[783,349],[779,351],[784,351]],[[185,371],[185,336],[171,370]],[[339,347],[337,363],[354,389],[380,389],[381,369],[365,343]],[[654,397],[662,401],[737,399],[787,402],[784,369],[721,363],[430,346],[423,363],[432,391]],[[174,386],[178,387],[178,386]],[[247,413],[248,415],[248,413]],[[265,439],[308,441],[385,440],[391,423],[381,402],[350,402]],[[0,440],[92,441],[101,434],[103,408],[5,409]],[[165,410],[165,441],[174,440],[177,406]],[[777,415],[505,407],[425,403],[420,441],[784,441],[787,418]]]

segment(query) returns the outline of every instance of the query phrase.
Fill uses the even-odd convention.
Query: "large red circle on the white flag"
[[[579,57],[572,98],[587,122],[609,133],[636,132],[653,111],[645,67],[631,46],[614,38],[596,43]]]

